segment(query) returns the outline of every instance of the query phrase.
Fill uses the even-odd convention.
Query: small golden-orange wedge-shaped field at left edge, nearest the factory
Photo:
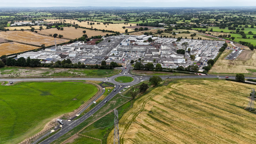
[[[37,49],[37,48],[40,48],[40,47],[21,44],[17,42],[0,43],[0,56],[11,55],[11,54],[20,53],[20,52],[24,52],[32,49]]]

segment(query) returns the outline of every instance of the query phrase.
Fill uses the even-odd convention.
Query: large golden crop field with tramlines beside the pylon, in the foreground
[[[166,82],[139,97],[122,116],[120,143],[256,143],[256,115],[243,109],[250,88],[256,86],[221,80]]]

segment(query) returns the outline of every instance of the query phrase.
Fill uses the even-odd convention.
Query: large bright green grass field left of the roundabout
[[[71,112],[98,89],[82,82],[24,82],[0,86],[0,141],[18,143],[55,117]]]

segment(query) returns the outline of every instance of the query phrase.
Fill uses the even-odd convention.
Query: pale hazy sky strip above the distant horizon
[[[211,7],[256,6],[255,0],[0,0],[0,7],[52,6],[148,6],[148,7]]]

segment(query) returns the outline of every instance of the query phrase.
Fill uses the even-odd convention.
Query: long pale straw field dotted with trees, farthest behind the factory
[[[48,21],[48,20],[45,20],[45,21]],[[52,20],[54,21],[54,20]],[[73,24],[75,22],[75,24],[78,24],[79,26],[81,27],[87,27],[87,28],[91,28],[93,27],[96,28],[96,29],[104,29],[104,30],[113,30],[113,31],[119,31],[120,33],[124,33],[126,29],[128,29],[128,32],[130,31],[134,31],[134,29],[131,29],[131,28],[125,28],[123,29],[122,27],[125,26],[125,27],[129,27],[130,25],[132,26],[136,26],[136,24],[130,24],[128,23],[128,25],[125,25],[124,23],[121,23],[121,24],[109,24],[109,25],[103,25],[103,23],[101,22],[94,22],[94,21],[82,21],[81,23],[79,21],[75,21],[75,20],[68,20],[66,19],[66,22],[65,23],[69,23],[69,24]],[[89,22],[89,25],[88,23]],[[90,23],[95,23],[94,25],[90,25]],[[97,23],[100,23],[99,25]]]

